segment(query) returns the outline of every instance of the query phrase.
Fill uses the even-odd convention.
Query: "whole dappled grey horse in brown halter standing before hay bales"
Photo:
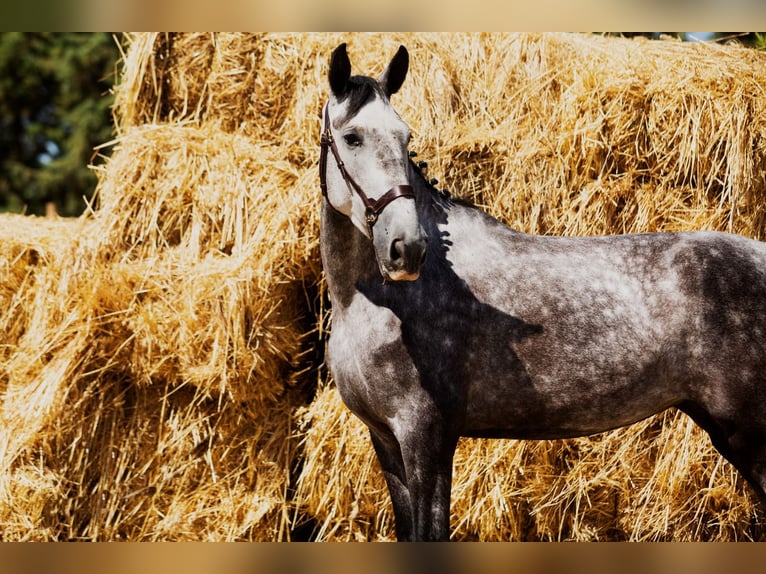
[[[459,437],[560,439],[676,407],[766,499],[766,244],[531,235],[449,197],[382,74],[330,58],[320,152],[330,373],[368,427],[398,540],[449,540]]]

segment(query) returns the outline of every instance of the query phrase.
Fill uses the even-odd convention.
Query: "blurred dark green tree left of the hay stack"
[[[0,33],[0,211],[77,215],[112,137],[119,49],[107,33]]]

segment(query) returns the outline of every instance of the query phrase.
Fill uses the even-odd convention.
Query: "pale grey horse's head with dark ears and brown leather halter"
[[[331,96],[323,117],[323,192],[372,240],[380,272],[393,281],[417,279],[426,253],[409,180],[410,129],[389,101],[408,66],[401,46],[378,79],[351,76],[341,44],[330,62]],[[328,150],[335,161],[327,161]]]

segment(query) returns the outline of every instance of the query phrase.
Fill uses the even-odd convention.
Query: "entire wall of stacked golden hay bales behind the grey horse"
[[[2,217],[0,538],[392,539],[322,366],[319,110],[379,73],[430,174],[529,232],[763,239],[766,56],[580,35],[130,36],[75,221]],[[675,411],[568,441],[461,441],[459,540],[743,540],[751,493]]]

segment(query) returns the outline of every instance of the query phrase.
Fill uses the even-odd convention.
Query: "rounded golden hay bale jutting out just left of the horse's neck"
[[[96,251],[130,293],[102,312],[126,311],[131,377],[268,411],[305,351],[303,285],[319,275],[296,170],[250,138],[176,125],[129,130],[110,168]]]

